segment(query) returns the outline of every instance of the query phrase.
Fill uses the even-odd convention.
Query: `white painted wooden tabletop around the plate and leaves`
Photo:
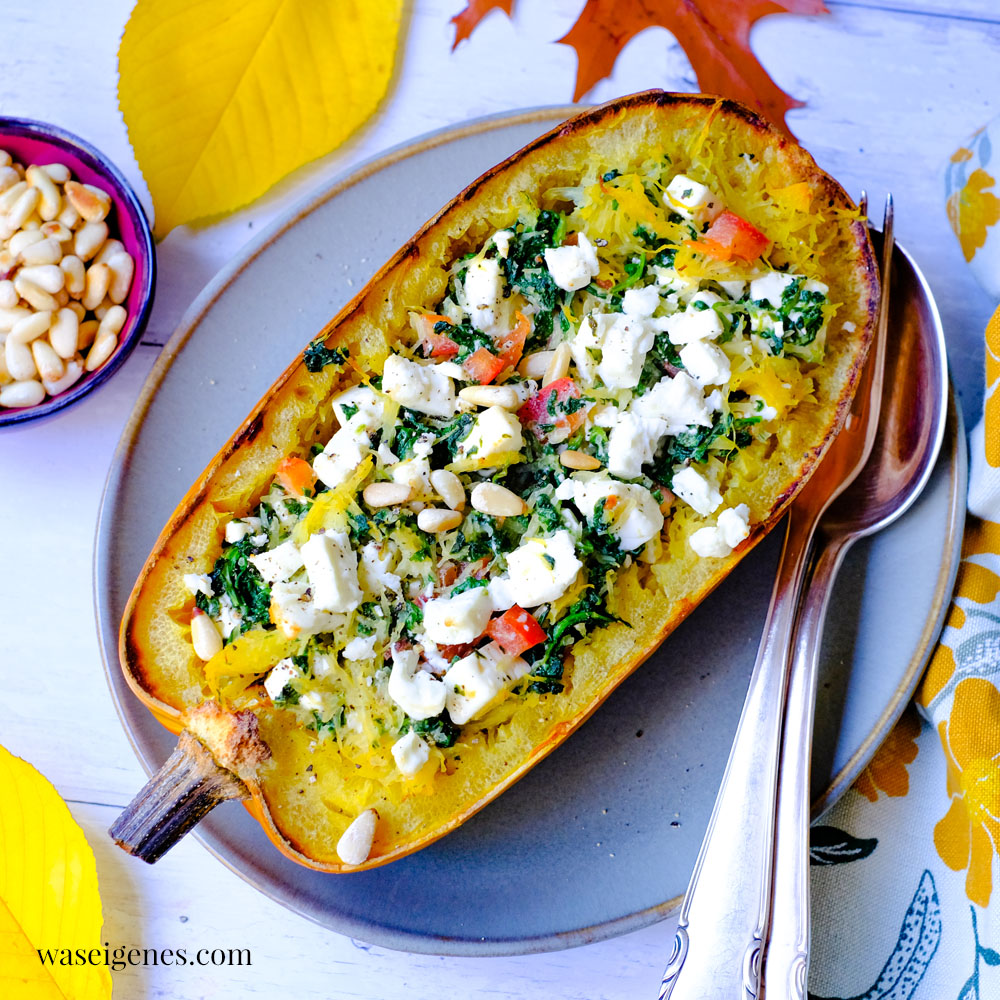
[[[226,2],[226,0],[219,0]],[[235,3],[235,0],[230,0]],[[264,898],[196,841],[153,867],[105,830],[144,781],[100,666],[92,602],[94,524],[119,434],[160,345],[244,242],[311,187],[423,132],[521,107],[566,103],[574,52],[550,44],[583,0],[518,0],[452,54],[448,18],[462,0],[413,0],[395,90],[344,149],[300,170],[262,201],[159,246],[159,286],[145,341],[111,382],[40,425],[0,432],[0,743],[43,771],[69,802],[97,857],[103,940],[147,948],[249,948],[250,968],[138,968],[115,974],[127,1000],[199,997],[654,997],[667,924],[568,952],[504,959],[406,955],[341,937]],[[991,310],[969,276],[944,212],[942,173],[969,134],[1000,113],[997,0],[827,0],[830,15],[774,16],[753,45],[774,79],[808,102],[789,116],[800,140],[852,193],[891,189],[897,236],[926,271],[947,329],[962,405],[981,401],[982,330]],[[4,0],[0,115],[82,135],[149,204],[116,97],[116,50],[132,0]],[[697,89],[673,38],[635,38],[607,100]],[[489,901],[483,900],[488,906]]]

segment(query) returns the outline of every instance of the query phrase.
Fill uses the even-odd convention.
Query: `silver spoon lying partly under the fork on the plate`
[[[872,233],[873,242],[880,242]],[[930,478],[948,403],[941,320],[923,277],[896,247],[882,412],[868,462],[830,505],[795,635],[779,778],[771,924],[758,996],[804,998],[809,960],[809,774],[816,679],[833,582],[847,550],[899,518]]]

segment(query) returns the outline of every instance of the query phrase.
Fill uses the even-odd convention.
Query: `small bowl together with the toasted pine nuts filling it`
[[[142,336],[155,277],[114,164],[53,125],[0,118],[0,427],[106,382]]]

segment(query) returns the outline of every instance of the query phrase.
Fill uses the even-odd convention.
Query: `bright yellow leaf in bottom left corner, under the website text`
[[[60,949],[101,946],[97,868],[66,803],[30,764],[0,747],[0,997],[107,1000],[105,965],[60,964]],[[43,965],[39,950],[55,953]]]

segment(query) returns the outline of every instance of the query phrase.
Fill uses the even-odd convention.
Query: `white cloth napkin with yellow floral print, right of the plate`
[[[994,139],[1000,119],[952,157],[946,184],[965,258],[1000,300]],[[813,1000],[1000,998],[1000,309],[970,449],[940,644],[915,704],[813,827]]]

